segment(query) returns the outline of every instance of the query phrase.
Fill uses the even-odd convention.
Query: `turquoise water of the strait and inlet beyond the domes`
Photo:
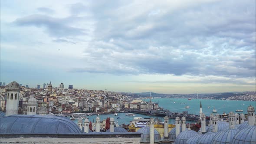
[[[144,99],[144,101],[149,101],[150,99]],[[200,101],[202,101],[202,109],[203,113],[209,116],[213,108],[217,110],[218,114],[222,114],[223,111],[226,113],[229,113],[230,111],[235,112],[236,109],[242,109],[243,112],[237,112],[237,113],[243,113],[247,114],[247,107],[249,105],[253,105],[255,107],[255,101],[231,101],[231,100],[204,100],[204,99],[192,99],[191,101],[187,100],[187,98],[156,98],[152,99],[151,101],[158,102],[158,105],[164,109],[168,109],[173,112],[182,112],[182,111],[188,111],[190,114],[196,114],[199,115],[200,112]],[[174,103],[175,102],[175,103]],[[184,108],[185,106],[189,106],[190,108]],[[223,106],[224,105],[224,106]],[[208,108],[208,106],[210,108]],[[235,112],[236,113],[236,112]],[[140,115],[135,114],[135,117],[142,117],[142,118],[157,118],[158,116],[146,116],[146,115]],[[89,121],[95,122],[96,117],[98,115],[92,115],[87,116],[89,118]],[[125,113],[118,113],[118,116],[115,116],[114,114],[110,115],[99,115],[101,118],[101,121],[103,119],[106,119],[107,117],[115,118],[115,122],[118,121],[118,124],[129,124],[130,121],[133,120],[134,117],[126,116]],[[121,119],[117,119],[117,117],[120,117]],[[164,122],[163,117],[158,117],[161,119],[162,122]],[[77,120],[74,121],[77,124]],[[187,121],[187,123],[195,123],[194,121]],[[174,119],[169,120],[169,124],[174,124]]]

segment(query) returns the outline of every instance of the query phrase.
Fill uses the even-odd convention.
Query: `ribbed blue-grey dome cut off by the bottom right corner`
[[[237,132],[232,144],[256,144],[256,126],[250,126]]]

